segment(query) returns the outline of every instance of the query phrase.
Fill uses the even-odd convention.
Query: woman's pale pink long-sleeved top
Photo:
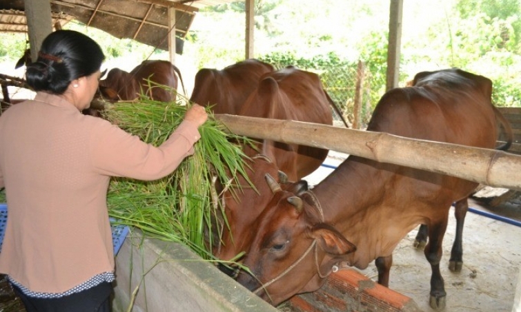
[[[62,293],[114,271],[110,177],[167,176],[199,138],[197,125],[183,121],[154,147],[44,92],[10,107],[0,116],[0,188],[8,201],[0,272],[30,291]]]

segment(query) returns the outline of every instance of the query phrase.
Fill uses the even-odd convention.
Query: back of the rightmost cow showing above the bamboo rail
[[[384,94],[367,129],[494,148],[498,132],[491,92],[492,81],[484,76],[458,69],[421,72],[413,87]]]

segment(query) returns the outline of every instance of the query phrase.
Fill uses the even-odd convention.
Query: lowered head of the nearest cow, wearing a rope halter
[[[266,178],[274,184],[273,178]],[[322,209],[309,191],[299,196],[280,187],[254,227],[237,281],[274,306],[297,293],[319,289],[333,266],[356,247],[324,222]]]

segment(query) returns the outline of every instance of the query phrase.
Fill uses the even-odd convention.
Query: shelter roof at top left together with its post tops
[[[77,20],[119,39],[182,54],[184,38],[199,9],[229,2],[233,1],[0,0],[0,32],[27,32],[30,45],[39,46],[49,32]]]

